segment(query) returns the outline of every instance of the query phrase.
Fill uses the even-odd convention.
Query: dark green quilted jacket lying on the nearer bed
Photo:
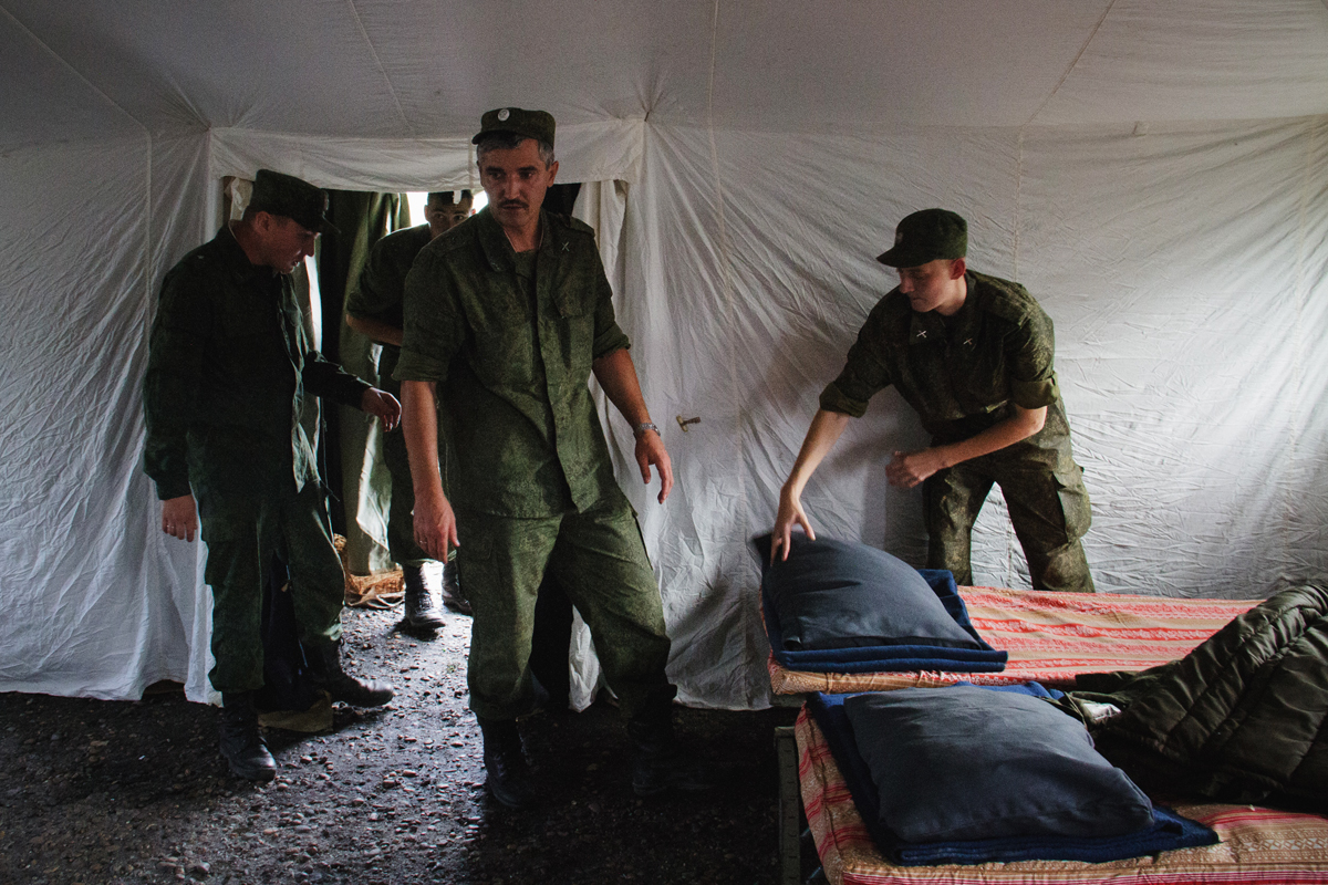
[[[1081,675],[1101,752],[1145,785],[1328,813],[1328,589],[1283,590],[1179,661]]]

